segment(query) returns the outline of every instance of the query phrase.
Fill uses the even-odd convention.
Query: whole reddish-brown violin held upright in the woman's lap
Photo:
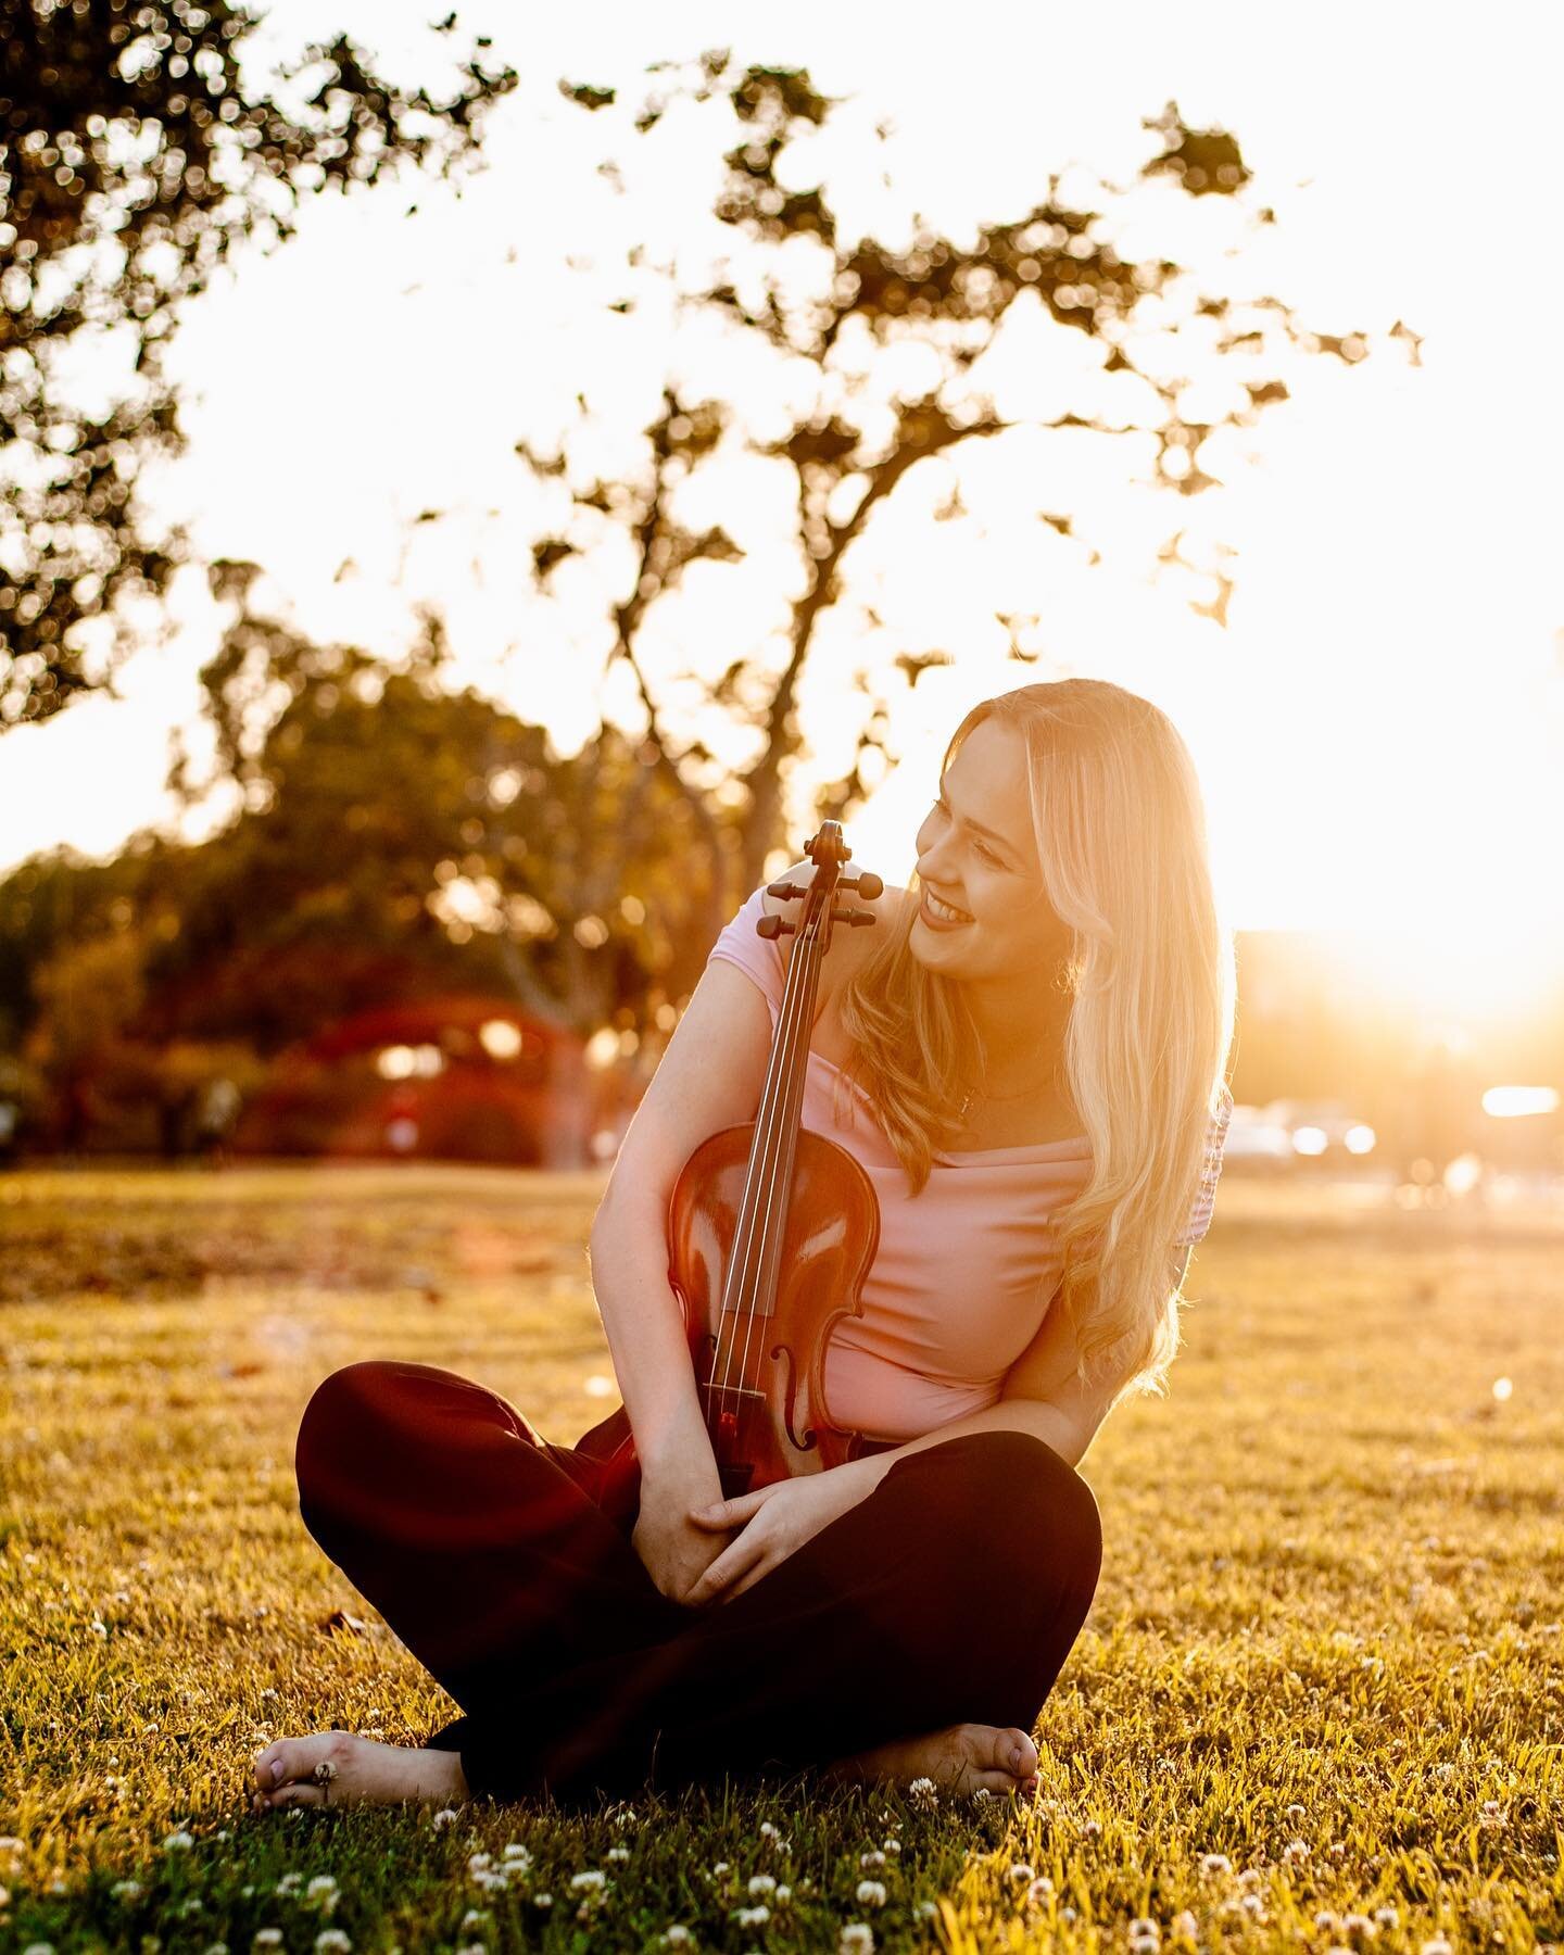
[[[764,938],[796,938],[755,1118],[710,1134],[669,1198],[669,1284],[684,1314],[723,1498],[825,1472],[874,1445],[831,1423],[823,1372],[837,1324],[864,1314],[880,1202],[858,1161],[802,1126],[800,1110],[833,931],[874,923],[872,911],[843,905],[841,891],[874,901],[884,882],[843,874],[850,850],[837,821],[821,823],[807,854],[815,864],[807,886],[766,886],[784,901],[804,899],[798,921],[766,915],[755,925]],[[639,1462],[624,1408],[575,1451],[602,1460],[608,1511],[633,1505]]]

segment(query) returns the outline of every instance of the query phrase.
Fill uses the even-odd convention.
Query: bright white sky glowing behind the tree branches
[[[395,63],[393,27],[428,47],[418,25],[434,12],[366,0],[332,18]],[[323,637],[395,649],[413,604],[434,596],[463,674],[561,747],[600,710],[633,725],[624,669],[608,696],[598,684],[602,586],[583,573],[553,598],[532,590],[528,545],[549,504],[512,444],[547,446],[581,391],[598,416],[592,454],[612,471],[631,463],[628,430],[669,371],[696,391],[747,387],[733,397],[757,416],[798,381],[753,354],[741,369],[710,328],[686,325],[674,342],[653,303],[663,282],[628,282],[633,242],[651,260],[678,252],[692,282],[704,256],[731,248],[710,219],[714,133],[669,117],[639,145],[565,104],[555,80],[639,100],[647,63],[706,47],[805,63],[854,98],[821,145],[831,201],[847,229],[884,237],[909,211],[954,237],[1017,217],[1071,164],[1128,182],[1155,147],[1142,117],[1177,98],[1189,121],[1238,133],[1279,221],[1224,262],[1241,240],[1226,199],[1191,207],[1148,190],[1124,254],[1167,248],[1206,264],[1208,287],[1275,291],[1306,325],[1363,328],[1374,358],[1351,371],[1306,364],[1249,444],[1257,461],[1206,497],[1126,489],[1120,450],[1085,457],[1036,434],[909,477],[895,520],[848,559],[848,602],[821,633],[798,833],[809,784],[848,762],[854,667],[944,645],[956,667],[909,696],[893,727],[905,762],[848,829],[858,860],[891,880],[911,866],[936,751],[966,708],[1077,671],[1146,692],[1183,729],[1239,929],[1390,923],[1408,950],[1441,954],[1455,934],[1490,958],[1564,929],[1548,860],[1564,837],[1558,16],[1501,4],[1472,31],[1455,6],[1001,0],[962,8],[956,39],[948,12],[911,33],[841,4],[745,14],[737,35],[731,6],[528,8],[522,33],[499,0],[463,8],[461,25],[493,31],[524,78],[491,123],[489,170],[459,199],[420,192],[413,219],[403,186],[323,199],[293,244],[192,309],[178,346],[190,450],[156,485],[158,506],[192,520],[203,553],[264,563],[278,602]],[[301,0],[270,23],[282,45],[325,27]],[[886,117],[882,158],[866,137]],[[608,152],[630,196],[596,176]],[[637,313],[606,311],[630,291]],[[1398,319],[1421,334],[1417,369],[1384,338]],[[1091,366],[1079,336],[1019,334],[1001,405],[1058,413]],[[956,475],[981,536],[931,520]],[[721,520],[747,557],[700,567],[653,618],[647,657],[674,723],[680,669],[774,651],[792,571],[774,469],[739,463],[692,491],[686,520]],[[444,520],[411,528],[426,508]],[[1040,508],[1073,512],[1105,563],[1087,569],[1036,522]],[[1181,520],[1238,551],[1226,631],[1189,610],[1198,585],[1148,575]],[[344,559],[356,573],[338,577]],[[886,626],[874,643],[864,602]],[[995,610],[1038,614],[1042,665],[1005,663]],[[194,577],[176,616],[170,641],[127,671],[123,702],[0,739],[0,862],[59,839],[108,850],[166,813],[168,735],[194,710],[194,673],[221,628]]]

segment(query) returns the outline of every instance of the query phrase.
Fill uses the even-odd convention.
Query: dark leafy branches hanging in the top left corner
[[[180,446],[162,375],[180,303],[242,240],[289,237],[325,186],[471,164],[516,84],[483,37],[438,98],[338,37],[246,92],[258,20],[227,0],[0,0],[0,731],[100,684],[125,649],[119,600],[160,592],[180,557],[135,508],[147,459]],[[90,411],[72,360],[115,340],[117,399]],[[94,622],[109,630],[84,661]]]

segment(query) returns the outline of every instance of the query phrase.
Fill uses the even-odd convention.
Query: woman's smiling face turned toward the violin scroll
[[[1026,743],[1003,719],[981,719],[946,768],[917,831],[917,876],[923,897],[907,948],[931,970],[1048,983],[1069,954],[1069,931],[1042,884]],[[931,909],[929,895],[966,921]]]

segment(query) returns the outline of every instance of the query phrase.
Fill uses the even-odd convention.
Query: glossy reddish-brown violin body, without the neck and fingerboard
[[[753,1146],[753,1120],[712,1134],[669,1202],[669,1282],[684,1308],[723,1498],[850,1456],[856,1435],[833,1425],[825,1406],[825,1345],[843,1318],[864,1314],[858,1292],[880,1247],[874,1183],[847,1148],[800,1128],[770,1310],[753,1324],[729,1310],[723,1322]]]

